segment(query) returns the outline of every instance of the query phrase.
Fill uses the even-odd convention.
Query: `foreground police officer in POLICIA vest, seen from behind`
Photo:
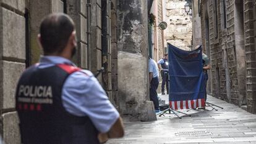
[[[38,40],[44,55],[16,90],[22,143],[100,143],[122,137],[122,119],[90,71],[70,60],[77,41],[72,19],[48,15]]]

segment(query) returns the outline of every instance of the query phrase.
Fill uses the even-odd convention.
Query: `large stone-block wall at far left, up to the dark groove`
[[[25,70],[25,1],[0,1],[0,134],[20,143],[15,87]]]

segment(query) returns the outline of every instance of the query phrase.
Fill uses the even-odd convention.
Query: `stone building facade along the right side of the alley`
[[[256,113],[255,0],[202,0],[202,46],[211,62],[208,92]]]

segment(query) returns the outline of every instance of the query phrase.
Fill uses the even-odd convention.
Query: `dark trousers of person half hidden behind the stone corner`
[[[158,84],[159,84],[158,77],[153,78],[150,82],[150,100],[153,101],[155,110],[159,110],[159,102],[158,102],[158,97],[156,92]]]

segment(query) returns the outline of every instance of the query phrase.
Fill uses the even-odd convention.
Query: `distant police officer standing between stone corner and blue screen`
[[[161,65],[161,67],[160,67],[160,65]],[[165,95],[165,92],[164,92],[165,85],[166,85],[167,94],[169,94],[168,54],[164,54],[164,57],[158,61],[158,68],[161,70],[161,77],[162,77],[161,92],[162,92],[162,95]]]

